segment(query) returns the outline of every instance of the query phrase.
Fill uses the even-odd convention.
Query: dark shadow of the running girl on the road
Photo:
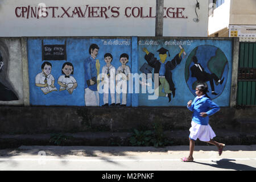
[[[237,171],[256,171],[256,168],[251,167],[251,166],[247,166],[245,164],[237,164],[237,163],[233,163],[230,161],[236,161],[234,159],[221,159],[216,161],[216,164],[208,164],[208,163],[200,163],[200,162],[195,162],[197,164],[204,164],[204,165],[208,165],[211,167],[217,167],[217,168],[222,168],[222,169],[234,169]]]

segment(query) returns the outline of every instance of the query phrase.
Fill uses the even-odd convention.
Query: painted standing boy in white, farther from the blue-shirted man
[[[129,56],[127,53],[122,53],[119,57],[119,61],[122,64],[118,67],[115,82],[116,82],[116,92],[117,92],[117,104],[120,105],[120,94],[122,93],[122,104],[121,106],[126,106],[127,97],[127,80],[129,79],[130,68],[126,65],[129,61]]]

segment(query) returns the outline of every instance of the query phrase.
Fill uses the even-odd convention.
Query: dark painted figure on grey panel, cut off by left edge
[[[6,78],[9,59],[7,52],[5,43],[0,41],[0,101],[16,101],[19,100],[18,95]]]

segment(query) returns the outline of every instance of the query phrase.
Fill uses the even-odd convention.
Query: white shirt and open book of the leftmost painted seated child
[[[57,88],[55,86],[54,86],[54,88],[52,88],[50,86],[50,85],[52,85],[52,81],[53,82],[55,81],[54,77],[51,74],[49,74],[46,77],[44,75],[44,73],[41,72],[41,73],[38,73],[38,75],[36,75],[36,77],[35,77],[35,83],[36,84],[46,84],[44,82],[44,80],[47,80],[47,84],[48,84],[48,86],[40,88],[43,91],[44,94],[47,94],[47,93],[52,92],[52,91],[57,91]]]

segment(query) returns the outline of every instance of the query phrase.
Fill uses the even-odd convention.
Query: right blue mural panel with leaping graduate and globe
[[[149,73],[140,86],[147,89],[146,94],[139,94],[140,106],[186,106],[201,82],[208,85],[214,102],[229,106],[230,40],[139,38],[138,54],[139,74]]]

